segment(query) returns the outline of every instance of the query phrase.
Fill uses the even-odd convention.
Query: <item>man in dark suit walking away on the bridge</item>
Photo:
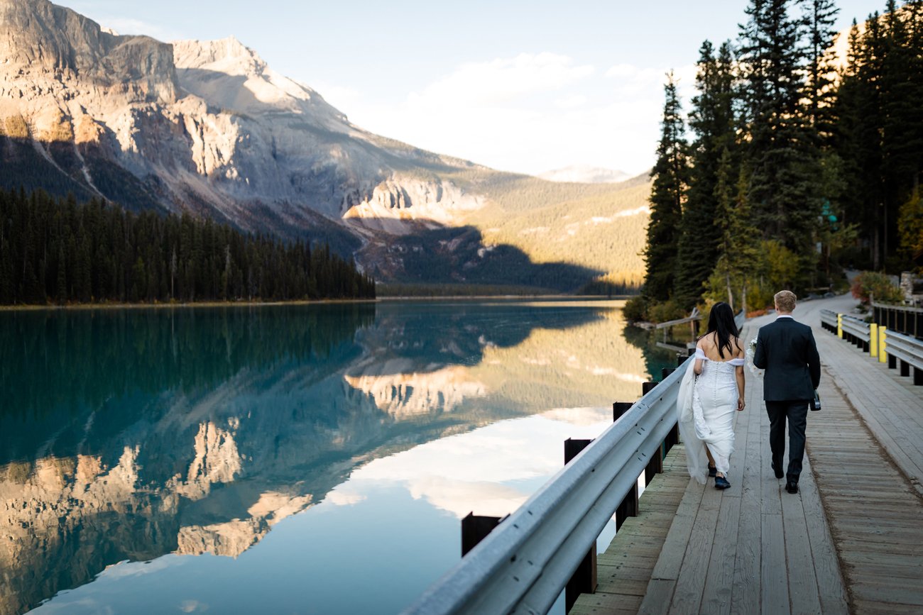
[[[753,364],[765,370],[763,395],[769,414],[769,446],[775,478],[781,479],[788,420],[788,472],[785,491],[798,492],[801,460],[805,454],[808,405],[821,382],[821,358],[808,325],[792,317],[797,297],[791,290],[775,293],[775,322],[760,328]]]

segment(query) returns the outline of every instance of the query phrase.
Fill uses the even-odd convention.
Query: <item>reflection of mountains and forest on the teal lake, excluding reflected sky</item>
[[[0,314],[0,613],[117,562],[236,558],[282,519],[349,500],[335,488],[372,460],[634,399],[645,353],[620,314],[512,302]]]

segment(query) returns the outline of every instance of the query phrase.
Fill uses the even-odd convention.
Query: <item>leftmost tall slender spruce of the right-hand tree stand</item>
[[[657,146],[657,162],[651,171],[651,220],[647,227],[647,247],[644,250],[647,266],[644,294],[654,302],[665,302],[673,294],[679,225],[689,183],[686,160],[688,145],[684,136],[686,126],[672,72],[667,76],[664,93],[660,144]]]

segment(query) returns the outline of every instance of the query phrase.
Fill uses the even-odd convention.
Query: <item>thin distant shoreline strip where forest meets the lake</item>
[[[633,295],[454,295],[446,297],[378,297],[377,299],[318,299],[290,302],[175,302],[175,303],[69,303],[66,305],[0,305],[0,312],[38,312],[42,310],[138,310],[164,308],[272,307],[281,305],[331,305],[338,303],[446,302],[446,301],[625,301]]]

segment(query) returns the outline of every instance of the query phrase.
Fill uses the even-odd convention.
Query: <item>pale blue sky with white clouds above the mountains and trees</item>
[[[694,94],[701,42],[745,0],[58,0],[121,34],[234,36],[351,122],[502,171],[653,166],[665,74]],[[884,0],[840,0],[845,30]]]

